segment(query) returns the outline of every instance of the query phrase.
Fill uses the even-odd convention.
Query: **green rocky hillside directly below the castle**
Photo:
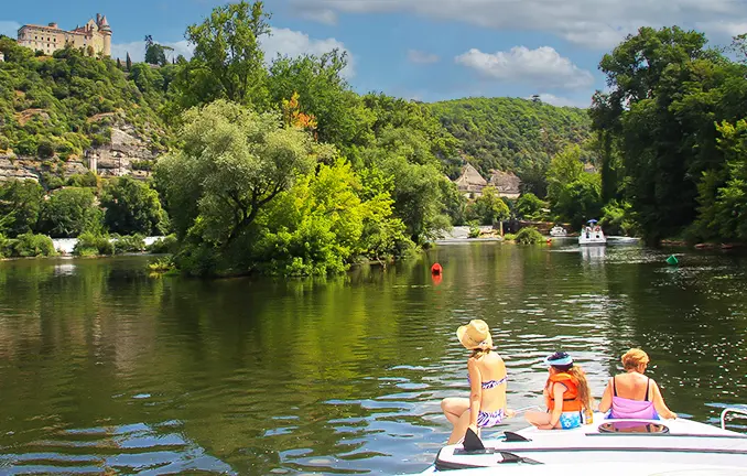
[[[120,122],[154,148],[165,145],[155,93],[144,95],[111,60],[73,48],[35,56],[6,36],[0,51],[0,151],[66,160],[108,142],[109,127]]]

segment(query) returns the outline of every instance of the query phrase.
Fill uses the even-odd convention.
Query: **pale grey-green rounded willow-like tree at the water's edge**
[[[155,167],[176,234],[226,247],[314,164],[307,133],[217,100],[185,112],[182,148]]]

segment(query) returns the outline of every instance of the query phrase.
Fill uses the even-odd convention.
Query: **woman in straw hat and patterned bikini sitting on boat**
[[[485,321],[473,320],[456,331],[462,345],[472,350],[467,359],[469,398],[445,398],[441,408],[454,425],[447,444],[457,443],[470,429],[499,424],[506,416],[506,365],[492,350],[490,329]],[[479,433],[478,433],[479,434]]]

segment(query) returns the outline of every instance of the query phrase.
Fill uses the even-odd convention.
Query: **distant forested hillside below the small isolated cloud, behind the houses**
[[[584,109],[527,99],[466,98],[429,107],[485,176],[490,169],[543,169],[565,144],[583,142],[591,130]]]

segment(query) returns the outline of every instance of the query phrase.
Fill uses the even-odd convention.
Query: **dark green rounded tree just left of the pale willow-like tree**
[[[129,176],[116,178],[107,184],[101,206],[106,209],[104,224],[109,231],[145,236],[166,232],[167,218],[159,193],[149,184]]]

